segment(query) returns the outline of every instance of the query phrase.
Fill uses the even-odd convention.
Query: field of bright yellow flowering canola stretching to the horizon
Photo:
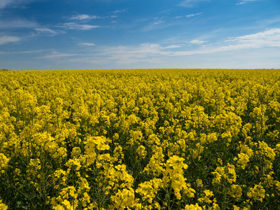
[[[0,209],[279,209],[279,79],[0,71]]]

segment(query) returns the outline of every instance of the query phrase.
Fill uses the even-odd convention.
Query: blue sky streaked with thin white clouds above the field
[[[280,68],[279,0],[0,0],[0,69]]]

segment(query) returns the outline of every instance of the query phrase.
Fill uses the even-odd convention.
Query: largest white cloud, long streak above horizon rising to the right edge
[[[91,61],[111,60],[111,62],[125,64],[144,61],[148,62],[151,60],[165,62],[168,57],[213,54],[216,52],[228,52],[233,50],[255,50],[256,48],[279,48],[280,28],[267,29],[255,34],[228,38],[223,43],[217,41],[216,43],[209,43],[208,45],[200,45],[201,43],[206,42],[207,41],[195,39],[193,41],[174,45],[143,43],[141,45],[102,47],[94,49],[94,55],[91,57]],[[197,47],[193,48],[192,46],[189,48],[186,43],[197,44]]]

